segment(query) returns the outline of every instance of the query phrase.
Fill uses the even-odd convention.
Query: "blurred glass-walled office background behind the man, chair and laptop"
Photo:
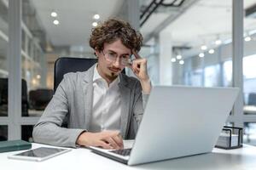
[[[143,34],[153,85],[241,88],[226,125],[256,145],[256,0],[0,0],[0,140],[32,142],[55,60],[96,58],[90,31],[113,17]]]

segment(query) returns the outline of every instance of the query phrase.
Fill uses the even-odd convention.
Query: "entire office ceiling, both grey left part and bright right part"
[[[88,47],[93,14],[101,14],[101,20],[116,16],[124,0],[31,0],[37,9],[38,18],[55,46]],[[232,0],[185,0],[192,5],[185,10],[166,8],[152,14],[141,28],[143,37],[163,25],[172,14],[176,18],[163,29],[170,33],[174,46],[198,48],[202,43],[211,43],[218,37],[227,39],[231,34]],[[140,0],[141,3],[148,0]],[[150,1],[149,1],[150,2]],[[244,8],[256,0],[244,0]],[[53,25],[52,11],[57,12],[60,25]],[[166,24],[166,23],[164,23]],[[245,30],[256,30],[256,19],[245,18]]]

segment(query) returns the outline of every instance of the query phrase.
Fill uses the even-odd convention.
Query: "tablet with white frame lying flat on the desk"
[[[27,150],[19,154],[8,156],[10,159],[19,159],[26,161],[44,161],[54,156],[59,156],[71,149],[62,149],[62,148],[47,148],[40,147],[33,150]]]

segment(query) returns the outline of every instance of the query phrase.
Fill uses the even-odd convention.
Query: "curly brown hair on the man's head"
[[[143,44],[143,36],[135,31],[124,20],[110,19],[96,26],[90,35],[90,47],[102,51],[104,43],[111,43],[120,39],[126,48],[139,51]]]

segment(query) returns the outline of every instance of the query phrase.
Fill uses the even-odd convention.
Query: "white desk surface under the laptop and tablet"
[[[45,146],[44,144],[32,144],[32,148]],[[170,170],[255,170],[256,147],[244,144],[243,148],[236,150],[214,149],[212,153],[198,156],[188,156],[169,161],[159,161],[138,166],[129,167],[117,161],[112,161],[103,156],[98,156],[87,149],[73,149],[61,156],[53,157],[42,162],[20,161],[8,159],[8,155],[18,153],[0,153],[1,169],[11,170],[125,170],[125,169],[170,169]]]

